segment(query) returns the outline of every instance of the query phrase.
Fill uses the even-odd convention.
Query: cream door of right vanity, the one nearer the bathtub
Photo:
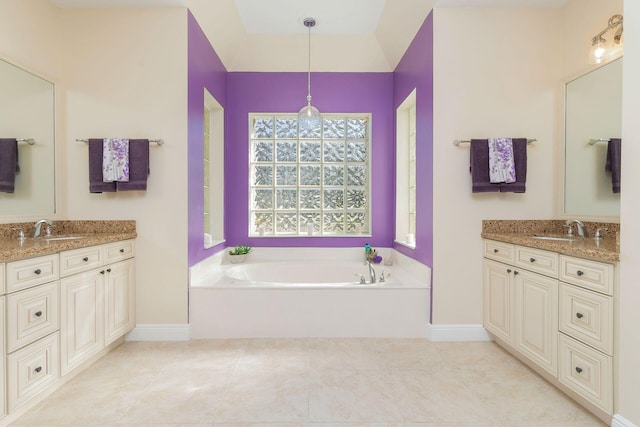
[[[496,337],[511,343],[513,336],[511,278],[513,267],[484,260],[484,327]]]

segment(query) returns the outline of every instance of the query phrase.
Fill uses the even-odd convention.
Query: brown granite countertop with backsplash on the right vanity
[[[585,228],[589,236],[593,236],[596,228],[606,227],[603,238],[581,238],[574,235],[574,240],[539,240],[532,236],[566,237],[562,227],[564,220],[548,221],[497,221],[482,222],[482,238],[513,243],[530,248],[543,249],[560,254],[589,258],[597,261],[617,262],[620,260],[620,226],[615,223],[589,223]]]

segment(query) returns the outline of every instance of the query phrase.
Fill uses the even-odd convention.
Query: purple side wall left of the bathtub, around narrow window
[[[226,109],[227,70],[209,44],[195,18],[188,12],[188,187],[189,266],[224,248],[204,249],[204,88]]]

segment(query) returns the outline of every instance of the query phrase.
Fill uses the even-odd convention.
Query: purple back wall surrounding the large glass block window
[[[321,113],[372,113],[372,237],[249,238],[249,113],[297,112],[306,102],[306,73],[229,73],[225,131],[227,245],[391,246],[394,238],[392,73],[311,73],[313,105]]]

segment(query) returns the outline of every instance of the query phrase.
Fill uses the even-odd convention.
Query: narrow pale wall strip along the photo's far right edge
[[[640,4],[624,4],[622,84],[621,242],[620,242],[620,383],[618,413],[640,426]]]

